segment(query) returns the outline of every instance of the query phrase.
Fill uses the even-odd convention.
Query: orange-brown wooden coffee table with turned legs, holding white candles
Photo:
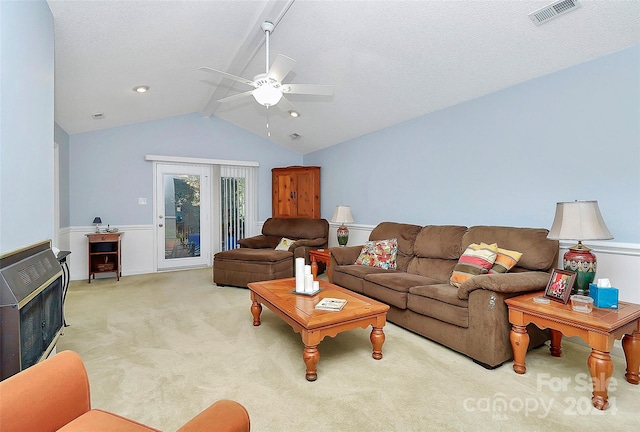
[[[373,345],[372,357],[380,360],[384,343],[382,327],[386,324],[389,310],[386,304],[322,280],[319,282],[320,292],[314,296],[293,293],[295,278],[249,284],[254,326],[260,325],[262,305],[265,305],[302,336],[304,343],[302,359],[307,366],[308,381],[315,381],[318,378],[316,369],[320,360],[318,345],[326,336],[335,337],[338,333],[347,330],[372,326],[370,335]],[[347,300],[347,304],[337,312],[314,309],[315,305],[325,297],[342,298]]]

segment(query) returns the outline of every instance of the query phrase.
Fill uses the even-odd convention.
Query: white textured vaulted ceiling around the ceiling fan
[[[640,43],[638,1],[580,1],[536,26],[550,1],[48,1],[55,22],[56,122],[69,134],[201,112],[305,154]],[[264,72],[264,20],[297,119],[199,71]],[[132,88],[148,85],[146,94]],[[95,120],[93,114],[103,113]],[[292,139],[291,134],[301,137]]]

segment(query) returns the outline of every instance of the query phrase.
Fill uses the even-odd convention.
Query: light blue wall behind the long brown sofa
[[[549,228],[558,201],[597,200],[640,242],[640,46],[305,155],[322,217]]]

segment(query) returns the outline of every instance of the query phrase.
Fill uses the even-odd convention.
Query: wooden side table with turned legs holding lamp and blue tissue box
[[[618,309],[594,308],[591,313],[574,312],[570,304],[551,301],[538,304],[534,297],[542,292],[506,299],[509,306],[509,322],[512,324],[509,338],[513,349],[513,370],[523,374],[525,356],[529,346],[527,324],[533,323],[551,332],[551,355],[562,353],[562,335],[579,336],[591,347],[587,360],[593,378],[593,406],[605,410],[609,406],[609,379],[613,375],[611,348],[616,339],[622,338],[622,348],[627,360],[625,378],[631,384],[640,382],[640,305],[619,302]]]

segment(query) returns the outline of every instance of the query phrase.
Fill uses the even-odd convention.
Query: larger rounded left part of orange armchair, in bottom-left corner
[[[63,351],[0,382],[0,429],[58,430],[91,409],[82,359]]]

